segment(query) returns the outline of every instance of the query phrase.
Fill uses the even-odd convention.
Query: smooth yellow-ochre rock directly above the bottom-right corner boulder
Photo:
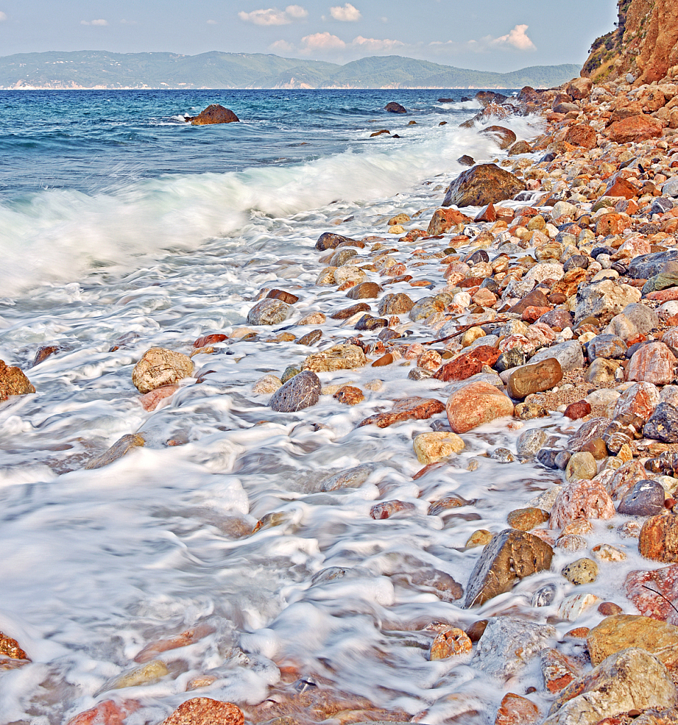
[[[593,666],[627,647],[640,647],[673,669],[678,665],[678,627],[650,617],[616,614],[603,619],[587,637]]]

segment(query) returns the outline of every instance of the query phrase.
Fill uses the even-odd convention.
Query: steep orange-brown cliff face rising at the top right
[[[616,30],[597,38],[582,75],[595,82],[630,73],[634,85],[678,76],[678,2],[619,0]]]

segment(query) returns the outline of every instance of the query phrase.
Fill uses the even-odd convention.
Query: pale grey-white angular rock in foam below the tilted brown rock
[[[471,665],[489,676],[508,679],[541,653],[555,627],[526,619],[492,617],[480,638]]]

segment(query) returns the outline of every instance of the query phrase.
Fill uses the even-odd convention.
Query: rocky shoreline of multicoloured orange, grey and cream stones
[[[548,571],[555,552],[569,555],[564,579],[575,587],[595,584],[627,559],[620,538],[648,567],[625,577],[626,607],[589,587],[542,617],[539,608],[555,597],[546,584],[534,592],[532,618],[508,611],[470,626],[432,622],[425,628],[428,658],[459,658],[502,681],[539,661],[539,704],[531,692],[509,691],[496,713],[484,713],[497,725],[677,722],[678,84],[673,76],[637,88],[580,78],[550,91],[524,88],[517,99],[479,95],[484,109],[468,125],[492,134],[507,152],[502,160],[472,166],[441,188],[438,208],[393,215],[379,234],[352,239],[328,231],[318,239],[315,286],[344,293],[343,305],[336,295],[327,297],[324,308],[291,325],[306,290],[265,287],[252,301],[247,327],[206,334],[188,355],[152,348],[132,381],[150,412],[194,376],[194,357],[209,360],[236,342],[263,340],[316,348],[300,365],[252,381],[252,395],[277,413],[306,410],[324,396],[338,407],[360,405],[381,389],[379,373],[387,366],[402,368],[408,390],[429,379],[448,384],[440,389],[445,400],[429,389],[392,396],[391,409],[366,415],[358,427],[431,421],[412,450],[403,451],[421,463],[413,476],[419,481],[455,460],[466,445],[460,436],[494,421],[518,437],[516,450],[497,447],[492,459],[534,462],[559,482],[507,512],[503,531],[475,531],[466,547],[477,547],[479,558],[468,581],[445,575],[431,584],[442,599],[478,608]],[[536,112],[547,128],[530,143],[502,125],[511,114]],[[414,294],[421,289],[429,294]],[[413,326],[421,341],[408,342]],[[38,357],[54,352],[42,349]],[[323,380],[324,373],[340,371],[350,373],[348,383]],[[3,364],[1,399],[33,392],[20,370]],[[552,413],[576,421],[564,444],[550,434]],[[518,433],[526,421],[543,425]],[[123,436],[87,468],[109,465],[144,444],[142,432]],[[366,477],[360,467],[350,469],[321,481],[318,490],[357,488]],[[448,495],[431,502],[428,513],[467,503]],[[384,499],[371,517],[407,515],[412,508]],[[594,535],[592,522],[618,513],[628,518],[608,530],[608,541],[601,537],[605,529]],[[264,517],[253,533],[270,525]],[[578,624],[596,612],[599,624]],[[563,622],[571,627],[559,640],[554,624]],[[11,634],[0,639],[6,668],[28,662]],[[168,673],[156,655],[205,634],[187,631],[152,643],[149,658],[137,658],[143,664],[109,689],[154,682]],[[277,664],[277,699],[247,706],[195,697],[162,725],[410,719],[399,709],[323,691],[319,676],[313,687],[291,689],[313,673]],[[187,689],[212,682],[206,674]],[[121,725],[140,707],[136,700],[106,699],[69,723]],[[423,712],[413,721],[431,719]]]

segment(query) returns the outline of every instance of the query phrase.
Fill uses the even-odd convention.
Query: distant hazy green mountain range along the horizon
[[[276,55],[220,53],[21,53],[0,57],[0,88],[549,88],[579,65],[510,73],[465,70],[397,55],[346,65]]]

